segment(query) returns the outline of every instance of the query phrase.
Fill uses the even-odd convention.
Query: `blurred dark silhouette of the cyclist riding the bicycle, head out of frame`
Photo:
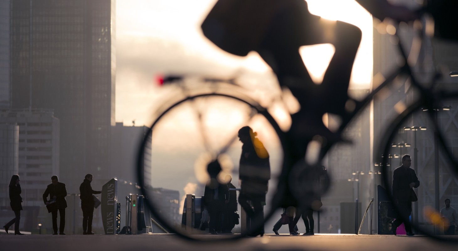
[[[383,20],[414,20],[418,15],[387,0],[356,0],[373,16]],[[361,40],[358,27],[328,21],[308,11],[305,0],[218,0],[202,23],[204,35],[221,49],[245,56],[256,51],[277,75],[281,86],[288,87],[301,105],[292,115],[289,134],[293,149],[305,153],[304,142],[315,135],[327,142],[342,140],[322,123],[325,113],[349,115],[345,104],[354,58]],[[317,85],[305,68],[299,47],[333,44],[335,54]],[[295,142],[294,142],[295,141]]]

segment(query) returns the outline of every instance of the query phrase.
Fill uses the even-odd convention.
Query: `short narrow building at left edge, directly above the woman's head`
[[[0,122],[0,207],[9,208],[8,185],[18,174],[19,127],[16,123]]]

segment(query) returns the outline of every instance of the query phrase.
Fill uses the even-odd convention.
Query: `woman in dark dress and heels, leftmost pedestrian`
[[[5,231],[7,234],[8,229],[14,224],[14,235],[24,235],[19,232],[19,222],[21,221],[21,210],[22,210],[22,197],[21,197],[21,185],[19,184],[19,176],[13,175],[10,181],[10,206],[11,210],[14,211],[14,215],[16,216],[10,222],[8,222],[5,226]]]

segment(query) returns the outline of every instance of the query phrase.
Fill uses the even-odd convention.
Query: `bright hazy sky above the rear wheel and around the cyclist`
[[[116,1],[116,121],[151,123],[151,114],[167,98],[168,87],[155,82],[158,74],[200,73],[250,76],[253,82],[276,85],[269,67],[256,53],[230,55],[202,36],[200,24],[216,0]],[[354,0],[308,0],[309,10],[342,20],[363,30],[363,42],[352,76],[352,88],[367,88],[372,76],[371,16]],[[344,10],[344,11],[342,11]],[[319,79],[332,47],[301,49],[307,69]],[[315,54],[313,54],[315,53]],[[319,55],[319,57],[316,57]],[[322,60],[319,60],[322,59]],[[317,72],[317,73],[315,73]],[[267,74],[268,73],[268,74]]]

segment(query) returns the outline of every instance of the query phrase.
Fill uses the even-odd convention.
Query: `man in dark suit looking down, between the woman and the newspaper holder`
[[[65,184],[59,182],[58,180],[59,178],[57,177],[57,175],[53,175],[51,177],[52,183],[49,184],[48,187],[46,187],[46,190],[44,191],[43,202],[44,204],[49,205],[48,196],[51,199],[56,199],[55,203],[57,204],[57,206],[55,206],[51,211],[53,217],[53,235],[57,235],[57,211],[59,211],[60,214],[59,234],[65,235],[65,208],[67,207],[67,201],[65,200],[65,196],[67,196],[67,190],[65,189]]]

